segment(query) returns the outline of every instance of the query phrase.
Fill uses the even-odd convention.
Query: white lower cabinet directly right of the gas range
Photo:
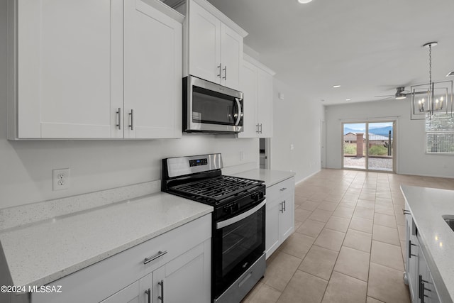
[[[266,258],[294,231],[294,177],[267,187]]]

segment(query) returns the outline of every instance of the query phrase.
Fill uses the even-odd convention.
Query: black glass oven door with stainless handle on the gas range
[[[215,224],[212,262],[214,297],[221,295],[265,251],[265,203]]]

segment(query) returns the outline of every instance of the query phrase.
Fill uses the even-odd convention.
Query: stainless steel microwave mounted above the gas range
[[[184,77],[183,131],[240,133],[243,93],[191,75]]]

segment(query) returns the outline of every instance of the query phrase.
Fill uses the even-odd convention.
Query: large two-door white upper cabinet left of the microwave
[[[157,0],[8,1],[10,139],[181,136],[179,13]]]

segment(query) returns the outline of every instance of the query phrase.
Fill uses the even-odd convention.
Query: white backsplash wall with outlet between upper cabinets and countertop
[[[0,108],[0,209],[160,180],[161,159],[222,153],[224,167],[255,162],[258,139],[187,135],[153,141],[7,141]],[[245,159],[240,161],[240,150]],[[52,192],[52,169],[70,167],[70,189]]]

